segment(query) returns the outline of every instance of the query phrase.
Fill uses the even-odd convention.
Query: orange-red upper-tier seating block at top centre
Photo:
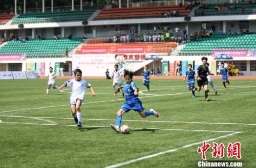
[[[175,12],[174,12],[175,11]],[[163,6],[163,7],[136,7],[136,8],[114,8],[102,9],[95,17],[99,19],[127,19],[127,18],[152,18],[152,17],[179,17],[189,14],[185,6]]]

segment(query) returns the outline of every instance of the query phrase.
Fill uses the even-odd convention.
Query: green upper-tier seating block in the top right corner
[[[239,2],[223,4],[203,4],[195,11],[195,16],[210,15],[249,15],[256,14],[256,3]]]

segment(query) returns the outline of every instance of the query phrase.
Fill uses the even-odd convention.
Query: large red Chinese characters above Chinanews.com
[[[241,159],[241,143],[236,142],[236,143],[228,143],[228,147],[225,150],[224,144],[217,144],[217,143],[212,143],[213,146],[211,147],[210,144],[208,144],[206,141],[203,142],[203,146],[198,147],[197,152],[201,154],[201,157],[203,160],[206,160],[206,153],[210,149],[212,149],[211,152],[211,157],[214,158],[223,158],[225,156],[225,151],[227,152],[227,157],[228,158],[233,158],[236,157],[237,159]]]

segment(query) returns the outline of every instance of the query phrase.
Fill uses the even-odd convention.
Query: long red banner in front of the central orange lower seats
[[[151,46],[104,46],[104,47],[88,47],[82,46],[81,54],[92,53],[148,53],[153,52]]]

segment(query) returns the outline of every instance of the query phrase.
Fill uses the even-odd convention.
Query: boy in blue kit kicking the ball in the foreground
[[[138,98],[139,89],[133,81],[133,72],[124,70],[123,76],[124,76],[125,82],[123,83],[123,86],[117,89],[115,94],[117,95],[118,91],[120,91],[120,89],[123,89],[124,95],[125,95],[125,102],[123,106],[121,106],[120,109],[117,111],[116,125],[111,124],[111,128],[118,133],[120,133],[122,115],[124,113],[127,113],[131,109],[137,111],[142,118],[145,118],[151,115],[154,115],[155,117],[159,117],[159,114],[152,108],[149,111],[144,112],[142,103]]]

